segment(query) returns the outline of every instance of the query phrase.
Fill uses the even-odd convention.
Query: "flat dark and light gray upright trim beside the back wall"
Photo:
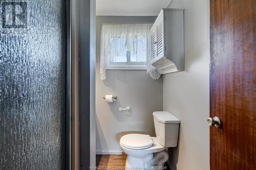
[[[80,0],[79,8],[80,169],[88,170],[95,157],[95,0]]]

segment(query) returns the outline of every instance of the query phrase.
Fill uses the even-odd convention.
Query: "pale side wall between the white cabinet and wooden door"
[[[163,76],[163,109],[181,120],[171,169],[209,169],[209,0],[173,0],[184,8],[185,71]]]

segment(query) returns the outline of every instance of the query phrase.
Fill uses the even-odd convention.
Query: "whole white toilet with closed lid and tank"
[[[154,169],[168,160],[169,147],[177,147],[180,120],[167,111],[153,113],[156,137],[127,134],[121,137],[120,147],[127,155],[126,169]]]

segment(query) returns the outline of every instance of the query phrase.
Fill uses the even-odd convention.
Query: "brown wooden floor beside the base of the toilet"
[[[125,167],[126,155],[96,155],[96,166],[98,169],[117,169],[121,170]],[[167,164],[165,164],[168,170]],[[108,168],[107,168],[108,167]]]

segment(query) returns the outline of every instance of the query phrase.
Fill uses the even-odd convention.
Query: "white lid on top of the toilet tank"
[[[180,120],[167,111],[156,111],[153,113],[153,116],[159,121],[164,124],[179,124]]]

